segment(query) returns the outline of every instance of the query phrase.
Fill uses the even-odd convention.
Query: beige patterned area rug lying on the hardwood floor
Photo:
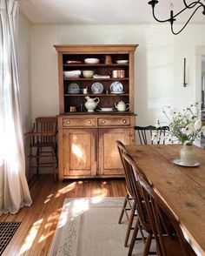
[[[123,198],[65,199],[50,256],[125,256],[127,219],[118,224]],[[142,255],[136,241],[133,255]]]

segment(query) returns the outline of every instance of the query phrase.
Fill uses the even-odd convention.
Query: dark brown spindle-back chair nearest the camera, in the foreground
[[[169,207],[155,193],[148,180],[142,175],[138,177],[142,187],[143,199],[154,232],[157,255],[159,256],[191,256],[196,255],[183,236],[178,219]],[[169,226],[167,225],[169,221]],[[171,224],[171,226],[170,226]],[[166,234],[164,231],[166,230]]]

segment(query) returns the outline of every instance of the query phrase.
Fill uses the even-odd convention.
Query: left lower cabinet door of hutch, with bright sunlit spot
[[[96,130],[63,129],[63,176],[96,175]]]

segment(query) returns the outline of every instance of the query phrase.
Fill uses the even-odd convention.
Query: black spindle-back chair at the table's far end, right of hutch
[[[166,135],[166,132],[169,131],[169,126],[162,126],[160,128],[156,128],[155,126],[152,126],[152,125],[135,126],[135,130],[137,131],[141,145],[153,144],[153,141],[151,140],[151,138],[152,138],[153,132],[155,131],[158,131],[158,134],[159,134],[159,140],[157,141],[157,144],[164,144],[165,143],[164,136]]]

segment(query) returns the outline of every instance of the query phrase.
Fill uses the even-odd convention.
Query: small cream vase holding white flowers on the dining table
[[[180,151],[180,157],[183,165],[195,164],[195,150],[193,145],[183,145]]]

